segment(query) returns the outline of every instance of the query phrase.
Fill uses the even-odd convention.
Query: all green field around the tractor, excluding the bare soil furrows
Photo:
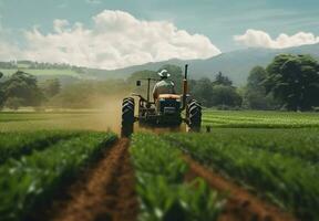
[[[318,114],[205,110],[203,119],[199,134],[186,134],[184,128],[145,133],[136,127],[130,149],[128,141],[121,147],[136,179],[131,188],[136,190],[140,209],[132,214],[145,221],[172,220],[176,214],[178,220],[227,219],[231,192],[207,185],[206,177],[187,178],[192,173],[183,159],[187,155],[213,175],[279,208],[279,213],[319,219]],[[119,125],[120,116],[105,110],[0,113],[0,186],[8,190],[1,192],[0,217],[33,219],[40,204],[45,201],[49,207],[54,193],[76,182],[101,152],[119,158],[113,165],[122,165],[122,157],[110,151],[119,149],[111,148],[116,139],[111,130],[119,134]],[[209,134],[205,133],[208,125]],[[117,169],[116,175],[122,172]],[[125,182],[122,186],[119,182],[116,189],[127,188]],[[121,198],[121,192],[115,197]],[[280,220],[276,213],[270,218]]]

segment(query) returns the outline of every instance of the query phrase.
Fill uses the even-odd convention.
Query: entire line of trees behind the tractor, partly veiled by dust
[[[163,69],[171,73],[177,93],[182,93],[182,67],[167,64],[158,71]],[[192,73],[193,76],[195,74]],[[127,80],[86,80],[61,87],[59,80],[38,83],[34,76],[19,71],[0,80],[0,108],[99,107],[103,103],[121,99],[131,92],[146,96],[146,81],[142,82],[141,87],[136,87],[135,82],[147,77],[158,78],[157,71],[138,71]],[[310,55],[277,55],[266,67],[254,67],[247,85],[241,87],[236,87],[222,72],[212,78],[189,81],[189,94],[205,107],[282,110],[313,110],[319,107],[319,64]]]

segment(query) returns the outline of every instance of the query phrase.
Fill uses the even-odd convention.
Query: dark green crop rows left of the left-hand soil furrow
[[[27,220],[115,139],[110,133],[14,135],[0,135],[1,220]]]

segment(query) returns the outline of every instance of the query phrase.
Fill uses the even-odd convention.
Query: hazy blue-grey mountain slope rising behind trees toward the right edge
[[[141,70],[156,71],[164,64],[175,64],[184,66],[189,64],[189,76],[198,80],[200,77],[213,78],[219,71],[229,76],[236,85],[246,84],[249,71],[256,66],[268,65],[272,59],[280,53],[292,54],[311,54],[319,59],[319,44],[303,45],[298,48],[271,50],[271,49],[245,49],[233,52],[223,53],[218,56],[214,56],[207,60],[169,60],[165,62],[147,63],[143,65],[131,66],[126,69],[106,71],[104,74],[113,75],[117,77],[126,77],[131,73]]]

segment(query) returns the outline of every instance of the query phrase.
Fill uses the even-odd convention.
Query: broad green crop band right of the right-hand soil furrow
[[[258,139],[247,133],[243,136],[218,136],[212,134],[165,135],[196,160],[231,177],[245,186],[253,187],[272,202],[292,211],[301,220],[318,220],[319,165],[280,152],[286,140],[272,145],[270,151]],[[291,136],[292,137],[292,136]],[[306,135],[305,135],[306,137]],[[259,137],[260,138],[260,137]],[[313,137],[312,137],[313,138]],[[249,141],[253,139],[253,141]],[[311,137],[309,138],[311,139]],[[258,146],[256,148],[256,146]],[[286,149],[289,149],[289,144]],[[295,144],[296,147],[298,144]],[[305,143],[299,143],[305,145]],[[308,143],[311,145],[311,143]],[[276,148],[280,151],[274,151]],[[305,147],[300,146],[300,149]],[[310,148],[311,149],[311,148]]]

